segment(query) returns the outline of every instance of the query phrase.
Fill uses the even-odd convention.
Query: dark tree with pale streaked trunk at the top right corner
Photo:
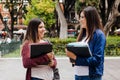
[[[120,17],[120,0],[100,0],[99,7],[104,24],[105,35],[108,36],[110,30],[114,32],[116,22],[120,21],[120,18],[118,19],[118,17]]]

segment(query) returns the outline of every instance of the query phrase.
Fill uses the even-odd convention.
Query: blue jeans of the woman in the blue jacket
[[[77,75],[75,75],[75,80],[102,80],[102,76],[89,77],[89,76],[77,76]]]

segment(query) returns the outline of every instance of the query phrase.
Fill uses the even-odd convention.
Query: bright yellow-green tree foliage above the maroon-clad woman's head
[[[54,16],[55,2],[52,0],[32,0],[31,5],[27,7],[25,24],[28,24],[32,18],[41,18],[45,21],[46,27],[49,28],[55,23]]]

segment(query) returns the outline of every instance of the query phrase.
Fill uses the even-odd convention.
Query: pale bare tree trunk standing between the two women
[[[65,19],[65,16],[60,8],[59,2],[56,4],[56,11],[58,13],[58,18],[60,20],[60,39],[67,38],[67,21]]]

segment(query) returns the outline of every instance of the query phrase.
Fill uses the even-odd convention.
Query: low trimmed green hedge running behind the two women
[[[120,36],[109,36],[106,39],[107,39],[107,43],[105,48],[105,55],[120,56]],[[55,55],[65,55],[66,44],[70,42],[75,42],[76,38],[68,38],[68,39],[50,38],[49,40],[53,44],[53,51]],[[14,43],[11,44],[11,46],[15,46]],[[0,49],[2,49],[1,46]],[[17,51],[11,52],[10,54],[11,55],[8,55],[8,57],[11,56],[16,57],[15,55],[17,56],[20,55],[20,48],[18,48]]]

